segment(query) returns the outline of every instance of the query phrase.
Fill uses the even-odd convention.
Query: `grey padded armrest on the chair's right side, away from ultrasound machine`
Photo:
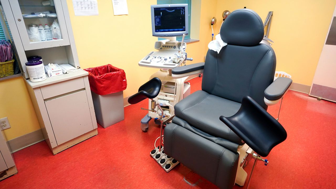
[[[265,90],[265,98],[267,100],[279,100],[291,86],[292,80],[285,77],[277,78]]]

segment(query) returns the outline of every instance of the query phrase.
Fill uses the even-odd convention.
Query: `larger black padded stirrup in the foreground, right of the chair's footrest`
[[[287,138],[282,125],[249,96],[235,115],[219,119],[263,157]]]

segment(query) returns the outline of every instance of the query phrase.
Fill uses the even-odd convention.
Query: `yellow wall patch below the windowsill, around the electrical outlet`
[[[22,77],[0,81],[0,118],[8,117],[7,140],[39,130],[40,126]]]

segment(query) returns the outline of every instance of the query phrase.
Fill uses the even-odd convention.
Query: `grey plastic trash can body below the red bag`
[[[91,91],[94,111],[99,125],[107,128],[124,120],[124,96],[123,91],[98,95]]]

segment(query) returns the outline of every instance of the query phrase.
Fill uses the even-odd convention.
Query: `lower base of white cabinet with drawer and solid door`
[[[98,134],[87,75],[78,69],[53,80],[27,81],[43,136],[53,154]]]

